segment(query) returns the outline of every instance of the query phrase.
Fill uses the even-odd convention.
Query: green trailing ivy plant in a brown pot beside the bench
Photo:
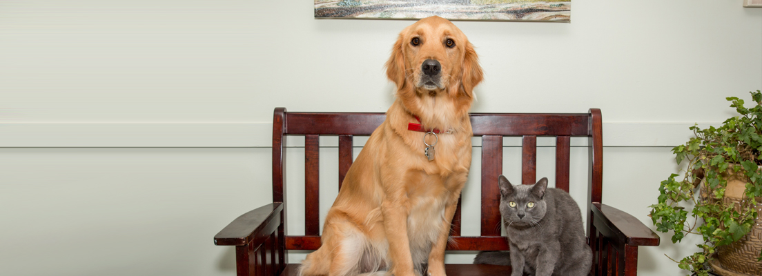
[[[739,116],[722,126],[690,127],[695,136],[672,149],[678,164],[687,162],[684,178],[672,174],[661,181],[658,204],[650,206],[649,217],[658,231],[673,233],[672,242],[687,234],[703,236],[699,252],[675,261],[698,276],[709,275],[710,269],[723,275],[762,274],[762,219],[757,216],[762,213],[762,92],[750,93],[752,108],[742,99],[726,98]],[[689,213],[693,222],[687,220]],[[738,254],[738,249],[747,250]]]

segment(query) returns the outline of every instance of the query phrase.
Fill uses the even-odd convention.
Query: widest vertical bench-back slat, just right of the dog
[[[500,188],[503,173],[503,136],[482,136],[482,236],[500,236]]]

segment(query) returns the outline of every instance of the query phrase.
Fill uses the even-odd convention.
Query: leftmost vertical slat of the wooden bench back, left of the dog
[[[304,137],[304,186],[305,186],[305,233],[307,236],[320,235],[319,220],[319,140],[318,135]]]

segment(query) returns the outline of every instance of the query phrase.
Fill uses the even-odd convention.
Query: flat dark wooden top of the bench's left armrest
[[[214,236],[217,246],[245,246],[263,242],[280,226],[283,204],[271,203],[244,213]]]

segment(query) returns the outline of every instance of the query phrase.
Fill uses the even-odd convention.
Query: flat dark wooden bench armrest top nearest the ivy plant
[[[619,242],[627,246],[659,245],[659,236],[629,213],[600,203],[593,203],[591,210],[595,226],[606,226]]]

